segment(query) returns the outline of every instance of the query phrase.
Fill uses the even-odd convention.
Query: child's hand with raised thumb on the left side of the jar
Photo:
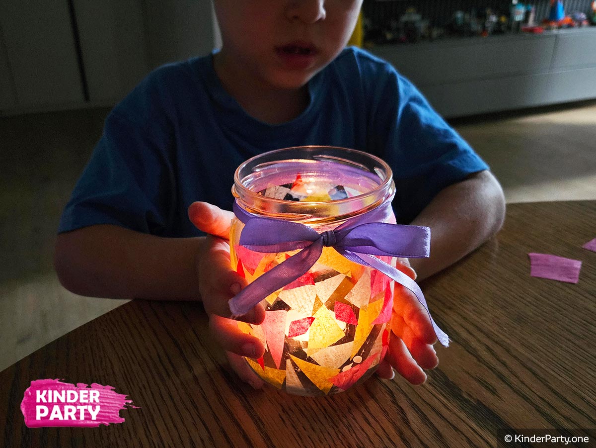
[[[241,332],[235,320],[229,319],[229,299],[246,286],[246,280],[232,271],[229,261],[228,235],[234,214],[206,202],[194,202],[188,208],[188,217],[199,230],[209,234],[203,249],[197,253],[195,265],[210,332],[226,351],[238,376],[259,388],[263,381],[241,356],[259,358],[265,353],[265,347],[259,339]],[[238,320],[260,324],[263,319],[265,308],[258,304]]]

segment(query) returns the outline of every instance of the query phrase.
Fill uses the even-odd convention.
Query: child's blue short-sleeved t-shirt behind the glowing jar
[[[308,83],[309,105],[290,122],[249,116],[223,88],[213,55],[150,73],[105,121],[59,231],[116,224],[144,233],[201,233],[188,206],[231,209],[240,163],[291,146],[342,146],[386,160],[398,223],[409,223],[444,187],[488,166],[383,60],[346,48]]]

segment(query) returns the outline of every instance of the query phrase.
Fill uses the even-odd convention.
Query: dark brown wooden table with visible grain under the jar
[[[255,391],[225,369],[200,304],[128,302],[0,373],[0,446],[498,446],[500,428],[596,428],[594,237],[594,201],[510,205],[498,236],[423,283],[452,343],[419,387]],[[579,283],[530,277],[528,252],[583,261]],[[112,385],[141,409],[30,430],[19,406],[42,378]]]

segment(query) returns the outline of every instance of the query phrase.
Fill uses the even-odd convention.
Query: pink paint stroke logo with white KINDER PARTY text
[[[137,406],[112,386],[69,384],[57,379],[31,382],[21,401],[27,428],[86,427],[122,423],[120,410]]]

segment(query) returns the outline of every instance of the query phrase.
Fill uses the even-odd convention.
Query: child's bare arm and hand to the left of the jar
[[[230,268],[229,223],[232,213],[206,203],[189,209],[200,230],[214,236],[162,238],[116,225],[92,225],[58,235],[54,265],[62,285],[87,296],[164,300],[201,300],[215,341],[228,353],[232,368],[253,387],[262,381],[238,362],[257,358],[265,347],[241,332],[230,316],[228,300],[246,283]],[[235,286],[237,285],[237,286]],[[262,305],[241,317],[265,318]]]

